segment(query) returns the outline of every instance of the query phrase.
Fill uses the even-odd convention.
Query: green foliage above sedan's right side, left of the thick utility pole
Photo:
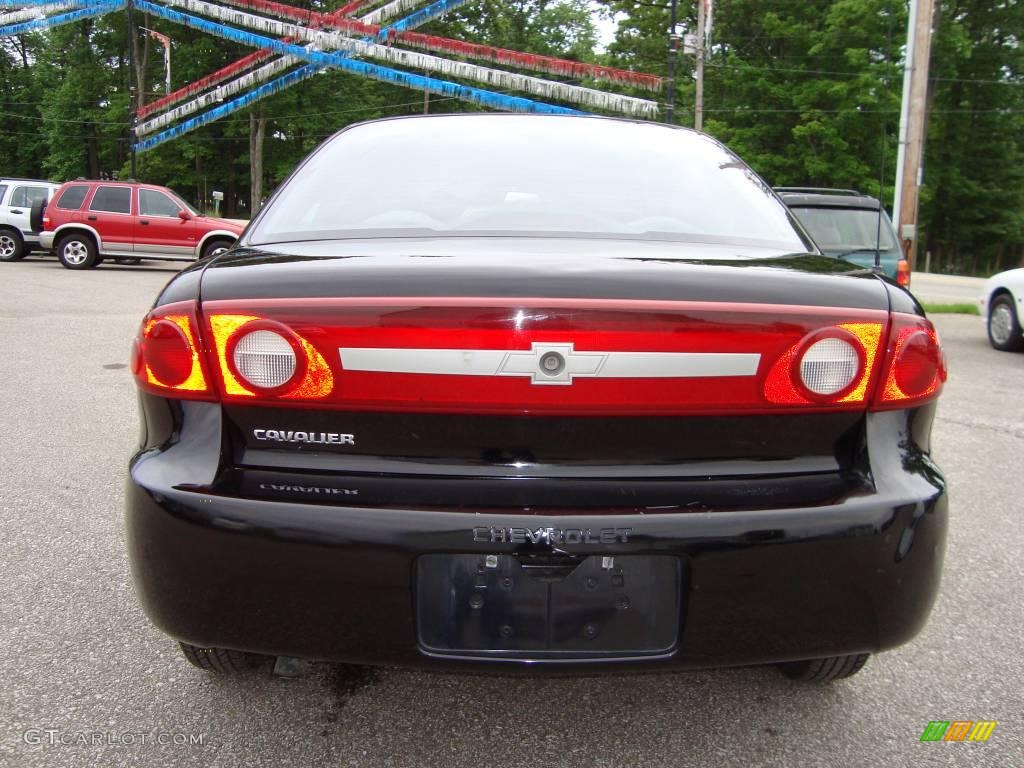
[[[608,48],[611,60],[664,71],[665,5],[607,4],[626,14]],[[855,186],[877,195],[887,128],[886,151],[895,159],[903,4],[730,0],[716,5],[705,71],[705,130],[772,184]],[[680,9],[681,28],[695,30],[693,3],[680,3]],[[691,124],[692,56],[681,56],[680,70],[676,122]],[[887,195],[892,180],[890,173]]]

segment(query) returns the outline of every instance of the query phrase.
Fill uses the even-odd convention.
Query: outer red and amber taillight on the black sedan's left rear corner
[[[198,329],[190,301],[166,304],[146,315],[131,350],[131,370],[142,389],[177,397],[211,397]]]

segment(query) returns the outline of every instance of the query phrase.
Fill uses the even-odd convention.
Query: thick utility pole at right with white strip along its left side
[[[928,123],[928,70],[934,12],[935,0],[910,0],[893,215],[911,270],[918,255],[918,208]]]

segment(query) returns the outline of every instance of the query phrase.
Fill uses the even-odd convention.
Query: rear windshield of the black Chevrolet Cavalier
[[[771,189],[707,136],[653,124],[528,116],[355,126],[286,182],[247,240],[418,234],[809,247]]]

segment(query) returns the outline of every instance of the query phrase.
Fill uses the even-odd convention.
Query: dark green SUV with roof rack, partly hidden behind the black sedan
[[[910,265],[878,200],[855,189],[780,186],[775,191],[823,253],[871,267],[878,248],[886,275],[909,288]]]

